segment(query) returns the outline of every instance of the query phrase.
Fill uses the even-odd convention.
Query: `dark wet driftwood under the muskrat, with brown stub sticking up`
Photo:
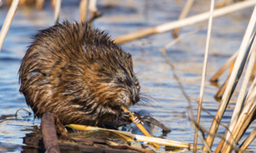
[[[108,132],[69,132],[70,141],[57,135],[58,129],[58,119],[50,113],[44,114],[41,131],[31,130],[33,132],[23,138],[26,146],[22,147],[22,152],[154,152],[151,148],[129,146],[120,136]]]

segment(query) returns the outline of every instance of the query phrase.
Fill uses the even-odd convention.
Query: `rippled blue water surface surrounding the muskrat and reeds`
[[[74,2],[74,5],[69,5],[68,0],[63,1],[61,19],[67,19],[70,22],[78,21],[77,4],[79,2],[78,0]],[[108,31],[114,38],[143,27],[155,26],[159,23],[177,19],[183,7],[183,1],[177,3],[174,0],[162,0],[159,3],[151,0],[145,3],[145,1],[109,2],[104,0],[99,1],[98,7],[102,11],[103,17],[97,19],[94,26]],[[209,9],[208,1],[198,1],[191,14],[201,13],[207,9]],[[6,11],[6,7],[0,10],[1,25]],[[210,60],[207,69],[208,79],[238,49],[250,13],[251,9],[247,9],[227,15],[227,17],[214,19]],[[30,45],[30,38],[37,33],[37,30],[51,26],[53,23],[53,10],[49,5],[46,5],[43,11],[19,9],[17,12],[0,53],[0,115],[15,114],[19,108],[30,110],[25,99],[18,92],[17,74],[20,60],[25,54],[26,46]],[[207,22],[203,22],[183,28],[181,33],[194,31],[198,28],[201,30],[196,34],[187,35],[186,38],[171,46],[166,52],[171,62],[174,63],[176,73],[192,100],[199,96],[206,27]],[[151,99],[153,102],[145,103],[145,106],[134,106],[132,110],[146,109],[151,112],[154,118],[171,127],[173,131],[165,138],[193,143],[194,131],[187,115],[188,103],[182,95],[178,83],[173,78],[173,72],[165,62],[162,53],[159,52],[159,49],[171,40],[173,40],[171,33],[165,33],[122,45],[124,50],[133,55],[134,71],[138,75],[142,92],[154,98]],[[220,81],[223,82],[223,78]],[[215,92],[217,92],[217,87],[210,84],[210,82],[206,82],[203,107],[211,114],[215,114],[219,106],[219,103],[213,98]],[[195,114],[195,110],[197,110],[195,100],[193,100],[192,105]],[[223,123],[229,123],[233,108],[234,103],[229,104]],[[28,116],[25,111],[19,112],[17,119],[13,117],[8,119],[0,123],[0,149],[6,149],[9,152],[21,151],[22,137],[30,132],[24,129],[33,129],[32,126],[37,125],[40,121],[38,119],[34,120],[33,115]],[[206,112],[202,112],[202,126],[209,128],[211,120]],[[219,133],[223,133],[224,130],[223,127],[219,128]],[[160,134],[161,131],[156,131],[155,135]],[[248,132],[246,135],[248,135]],[[202,143],[199,141],[199,144]],[[216,147],[216,144],[213,147]],[[250,150],[255,150],[255,147],[256,143],[254,142],[250,146]]]

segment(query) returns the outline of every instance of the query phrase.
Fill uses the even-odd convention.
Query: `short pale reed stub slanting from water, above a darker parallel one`
[[[228,60],[227,62],[211,77],[210,82],[217,82],[219,77],[224,73],[224,71],[230,67],[232,63],[235,62],[235,58],[237,58],[238,51],[235,52]]]

